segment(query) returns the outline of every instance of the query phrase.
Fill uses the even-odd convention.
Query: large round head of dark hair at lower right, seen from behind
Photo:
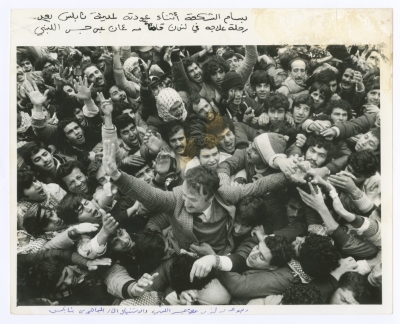
[[[310,234],[300,248],[298,260],[304,272],[314,278],[326,278],[339,267],[340,253],[328,236]]]

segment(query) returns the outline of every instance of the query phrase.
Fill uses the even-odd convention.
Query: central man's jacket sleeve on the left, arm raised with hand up
[[[175,210],[176,200],[173,192],[154,188],[123,171],[114,183],[123,194],[135,197],[149,210],[164,213],[173,213]]]

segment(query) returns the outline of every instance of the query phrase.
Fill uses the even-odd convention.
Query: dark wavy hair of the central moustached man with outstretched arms
[[[214,196],[219,189],[217,171],[202,165],[189,169],[185,181],[189,188],[194,189],[198,194],[206,195],[207,199]]]

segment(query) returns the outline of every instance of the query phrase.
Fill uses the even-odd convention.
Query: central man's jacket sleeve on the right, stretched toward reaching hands
[[[225,202],[235,205],[245,196],[264,196],[266,193],[285,188],[287,184],[288,182],[283,173],[274,173],[244,186],[232,187],[228,184],[223,184],[218,193]]]

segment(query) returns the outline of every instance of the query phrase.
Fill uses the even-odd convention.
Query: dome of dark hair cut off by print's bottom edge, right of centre
[[[294,284],[283,294],[282,305],[320,305],[325,304],[322,293],[310,284]]]

